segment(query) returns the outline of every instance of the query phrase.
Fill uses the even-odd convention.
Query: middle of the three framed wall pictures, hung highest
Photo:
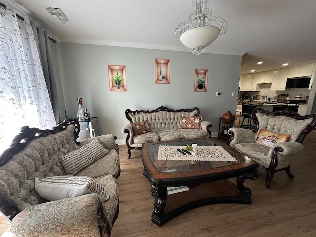
[[[155,84],[170,84],[170,59],[155,58]]]

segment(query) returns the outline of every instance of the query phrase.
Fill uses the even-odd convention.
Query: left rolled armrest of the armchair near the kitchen
[[[250,143],[256,140],[256,133],[245,128],[231,127],[228,130],[228,136],[227,144],[232,148],[235,148],[238,143]]]

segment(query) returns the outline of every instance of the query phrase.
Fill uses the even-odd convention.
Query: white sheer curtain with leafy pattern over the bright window
[[[0,9],[0,154],[22,126],[56,126],[29,19]]]

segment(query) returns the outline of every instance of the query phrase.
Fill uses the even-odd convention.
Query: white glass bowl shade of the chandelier
[[[186,30],[179,39],[188,48],[205,48],[217,39],[219,33],[220,31],[216,27],[200,26]]]

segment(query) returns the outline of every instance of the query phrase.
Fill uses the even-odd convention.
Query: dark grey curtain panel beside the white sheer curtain
[[[56,123],[60,122],[59,106],[58,106],[58,96],[57,96],[57,86],[56,79],[53,68],[53,60],[51,56],[51,50],[49,45],[48,32],[40,26],[36,26],[34,21],[31,21],[34,38],[38,47],[40,54],[40,61],[43,68],[44,77],[46,80],[46,85],[53,107],[54,116]]]

